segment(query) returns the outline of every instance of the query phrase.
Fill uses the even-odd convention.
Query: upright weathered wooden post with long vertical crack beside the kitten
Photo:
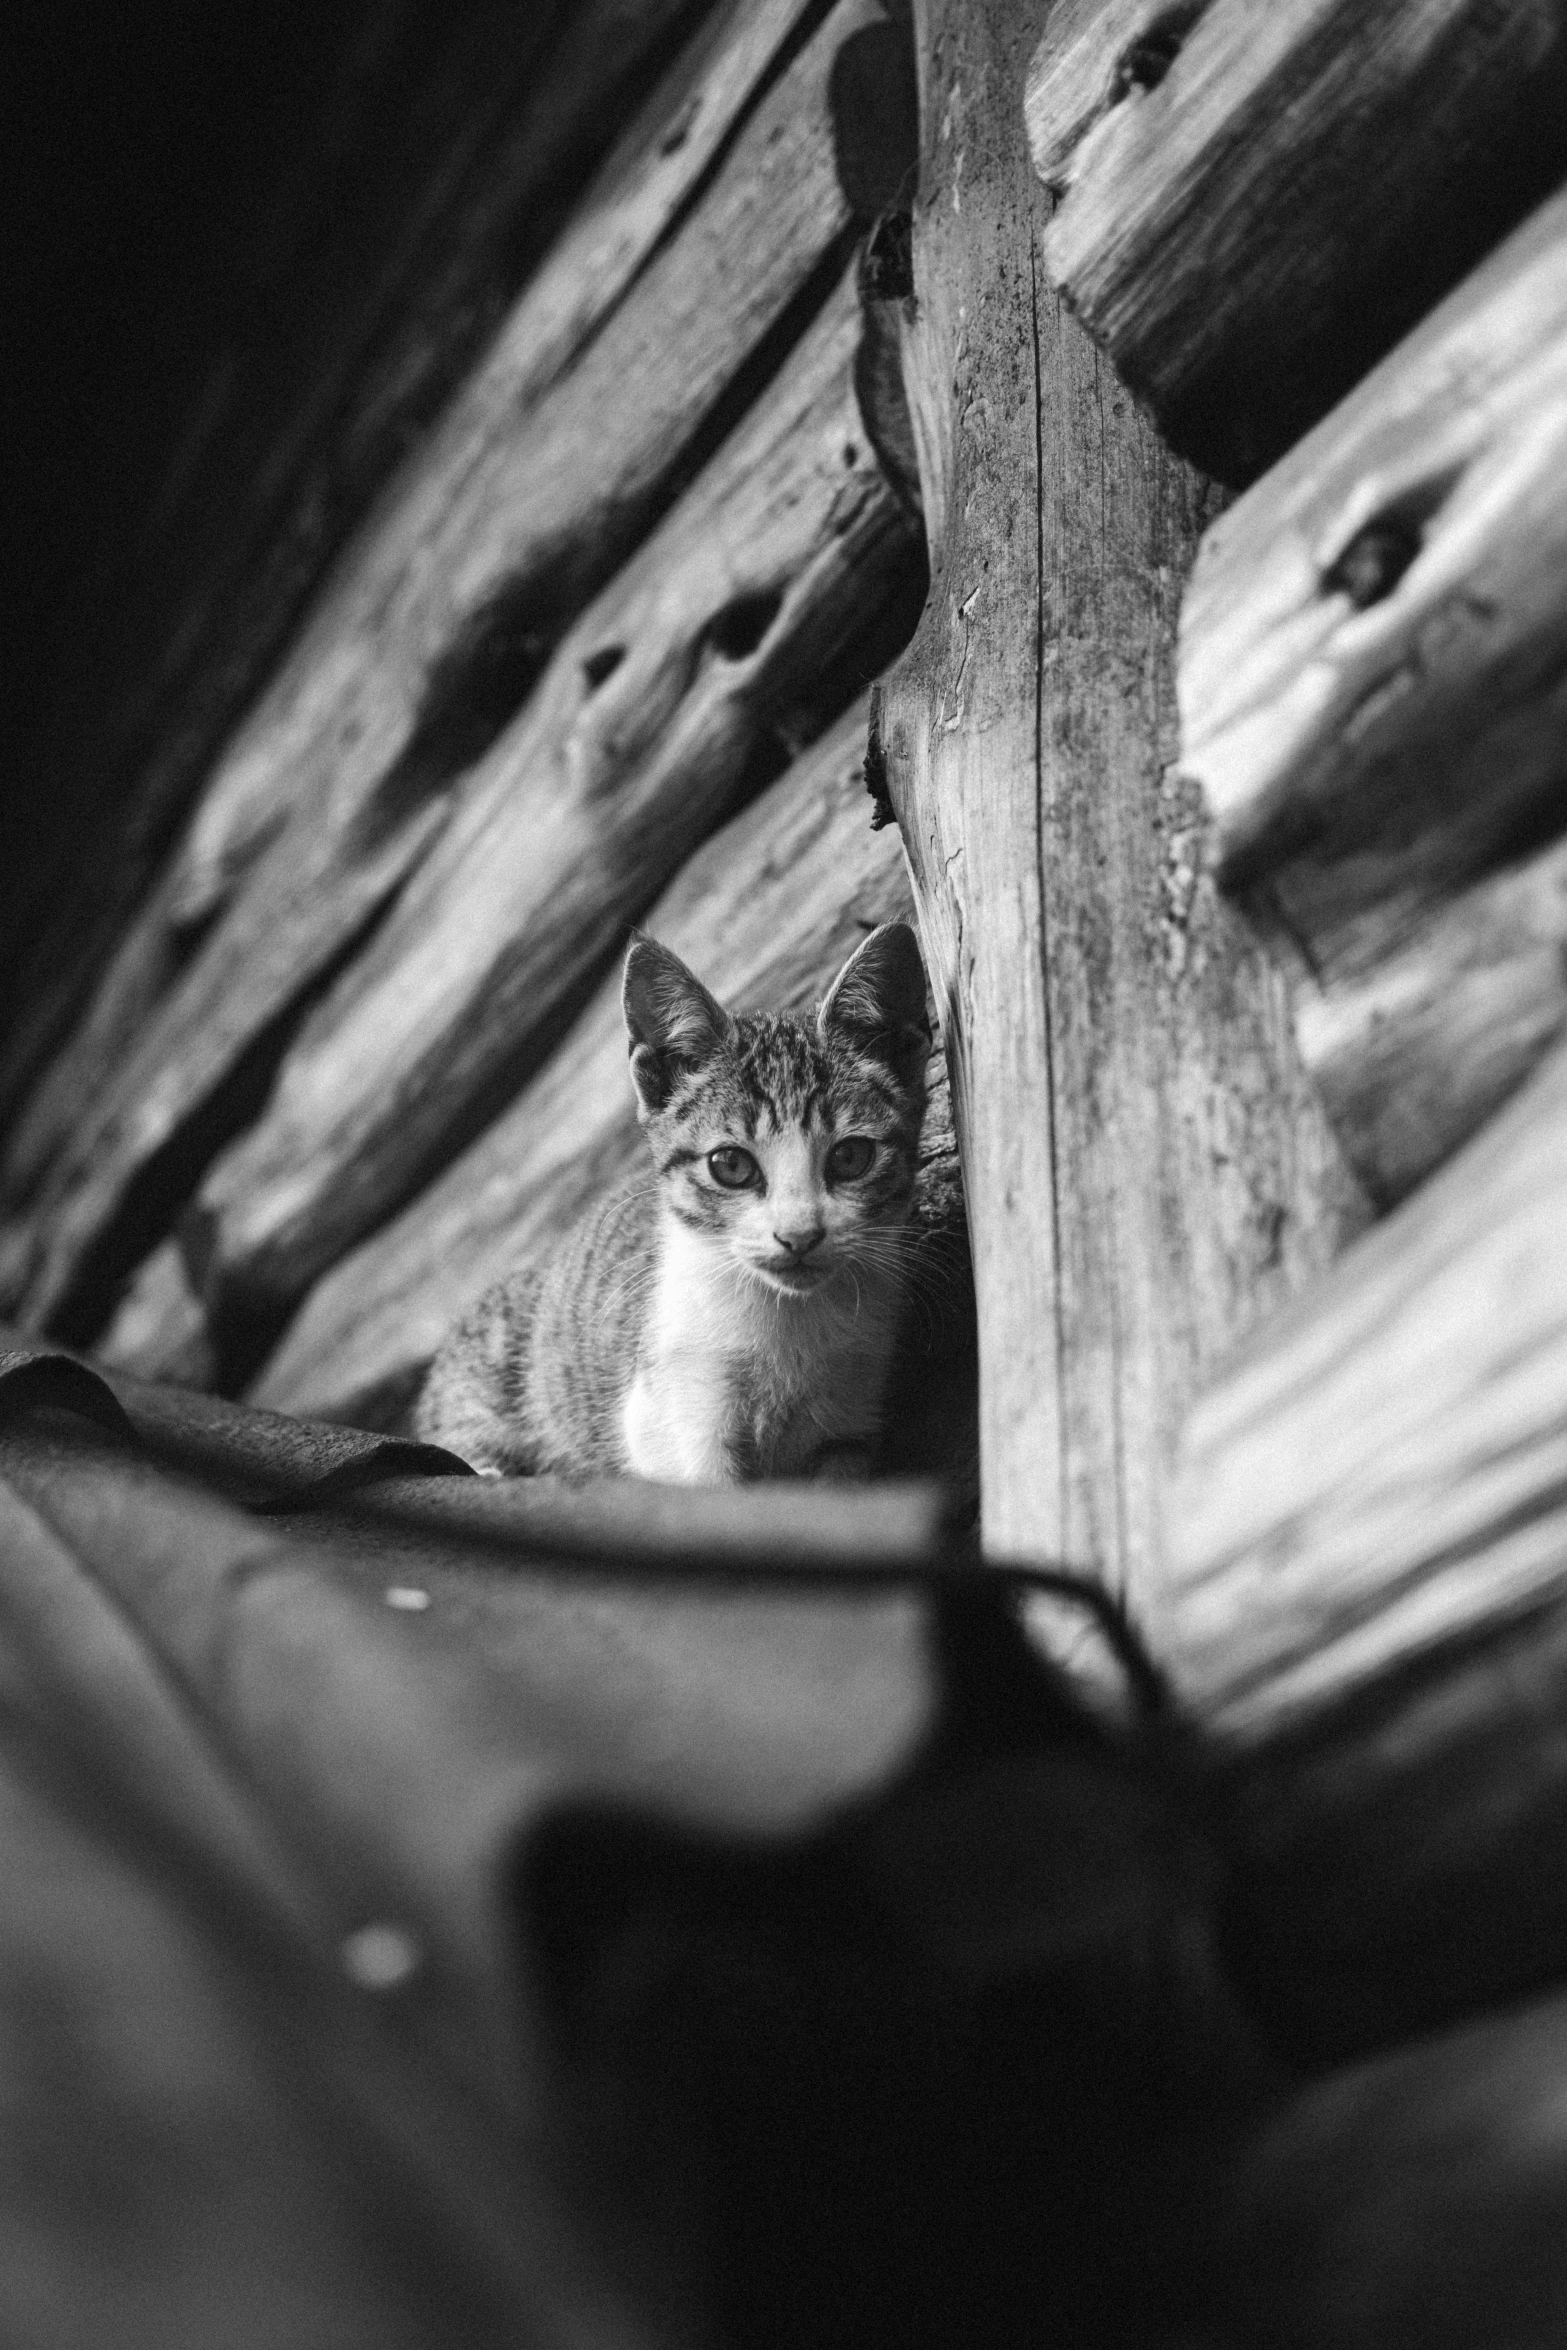
[[[1198,1377],[1353,1189],[1278,980],[1203,872],[1170,649],[1208,484],[1045,284],[1045,5],[916,0],[902,296],[930,599],[881,754],[944,999],[980,1295],[987,1546],[1146,1610]]]

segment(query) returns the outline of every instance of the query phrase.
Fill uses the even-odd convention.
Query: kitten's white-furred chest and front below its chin
[[[780,1297],[674,1217],[625,1412],[627,1466],[677,1485],[801,1476],[827,1445],[881,1422],[900,1290],[893,1271],[841,1264]]]

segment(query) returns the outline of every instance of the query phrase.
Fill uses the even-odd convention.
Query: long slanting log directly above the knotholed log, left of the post
[[[265,801],[268,778],[294,771],[296,822],[73,1126],[28,1318],[92,1323],[89,1300],[127,1262],[113,1222],[132,1187],[134,1257],[251,1112],[254,1086],[235,1114],[226,1083],[244,1095],[247,1055],[251,1074],[275,1060],[303,994],[418,862],[453,778],[515,714],[550,642],[698,463],[702,435],[721,432],[724,395],[745,397],[747,364],[775,362],[850,233],[834,70],[879,21],[872,0],[841,0],[580,364],[515,432],[416,468],[341,566],[214,780],[254,804],[251,785]]]

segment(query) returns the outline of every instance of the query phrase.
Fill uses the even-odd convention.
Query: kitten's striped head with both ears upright
[[[639,1116],[663,1201],[778,1297],[874,1267],[914,1194],[926,1109],[926,975],[883,924],[815,1022],[735,1020],[653,940],[627,956]]]

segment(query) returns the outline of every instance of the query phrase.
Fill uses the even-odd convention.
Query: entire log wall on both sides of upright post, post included
[[[1245,2338],[1544,2350],[1548,2263],[1485,2334],[1367,2275],[1332,2164],[1471,2115],[1506,2160],[1426,2218],[1506,2254],[1508,2176],[1560,2242],[1562,2019],[1504,2009],[1567,1972],[1562,14],[592,0],[453,42],[402,242],[322,258],[336,357],[254,432],[240,369],[82,752],[5,1309],[385,1422],[627,1163],[632,919],[806,1001],[912,907],[987,1549],[1144,1626],[1278,2044],[1497,2009],[1280,2120]]]

